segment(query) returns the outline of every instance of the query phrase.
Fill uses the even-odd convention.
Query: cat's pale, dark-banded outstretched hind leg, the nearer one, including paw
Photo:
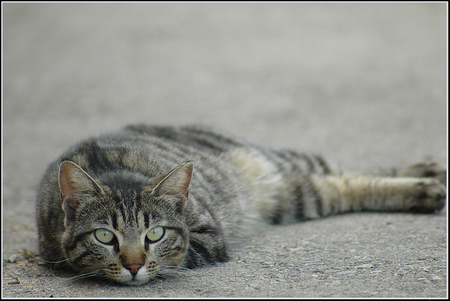
[[[445,205],[446,189],[434,178],[341,175],[311,176],[310,182],[317,217],[353,211],[433,213]],[[305,215],[314,215],[310,211]]]

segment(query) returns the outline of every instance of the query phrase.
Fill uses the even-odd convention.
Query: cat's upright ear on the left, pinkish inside
[[[72,161],[59,165],[59,188],[67,218],[73,217],[83,196],[102,195],[103,189],[80,166]]]

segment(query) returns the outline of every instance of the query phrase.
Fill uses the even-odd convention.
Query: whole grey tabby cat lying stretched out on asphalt
[[[335,174],[320,156],[204,127],[128,126],[49,166],[37,197],[40,254],[86,277],[140,285],[170,269],[226,261],[229,247],[264,224],[439,211],[439,176],[445,182],[435,164],[391,177]]]

